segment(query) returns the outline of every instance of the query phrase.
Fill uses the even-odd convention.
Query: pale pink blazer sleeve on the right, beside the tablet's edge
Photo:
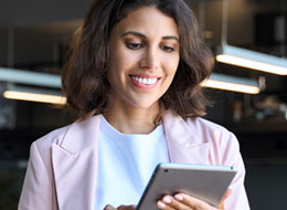
[[[223,165],[234,166],[237,174],[234,177],[230,189],[231,196],[224,202],[225,210],[249,210],[249,204],[244,187],[245,167],[240,153],[238,140],[234,134],[227,132],[227,144],[225,145],[222,161]]]

